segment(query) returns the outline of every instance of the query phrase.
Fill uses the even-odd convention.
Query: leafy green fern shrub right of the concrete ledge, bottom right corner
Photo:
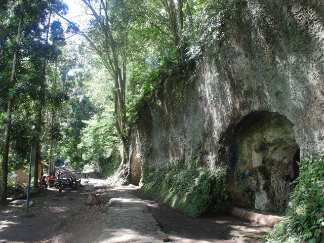
[[[297,185],[282,221],[267,243],[324,242],[324,151],[302,159]]]

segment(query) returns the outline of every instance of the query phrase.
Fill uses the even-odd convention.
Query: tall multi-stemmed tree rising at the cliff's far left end
[[[134,45],[134,36],[129,28],[135,22],[135,16],[127,14],[127,1],[81,0],[94,16],[90,34],[79,31],[77,25],[61,16],[74,30],[85,37],[90,47],[101,58],[114,84],[115,127],[123,144],[123,160],[119,170],[127,168],[129,161],[129,135],[126,117],[126,68],[130,47]],[[133,22],[134,21],[134,22]],[[127,175],[124,170],[121,174]]]

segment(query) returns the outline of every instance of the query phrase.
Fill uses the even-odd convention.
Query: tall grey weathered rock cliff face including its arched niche
[[[324,146],[323,9],[278,0],[238,11],[195,82],[178,99],[166,90],[134,125],[132,177],[199,152],[202,165],[227,168],[234,205],[282,212],[295,161]]]

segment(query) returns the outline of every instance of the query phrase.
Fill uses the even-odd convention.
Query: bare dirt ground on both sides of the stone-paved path
[[[80,173],[66,169],[65,177],[70,175],[82,177]],[[98,178],[93,174],[91,177]],[[50,188],[45,196],[31,198],[30,213],[35,217],[20,217],[25,212],[26,200],[15,200],[0,208],[0,243],[97,242],[102,222],[107,217],[108,198],[93,185],[86,188],[88,192],[101,195],[103,203],[85,206],[86,193],[73,191],[58,197],[58,189]],[[253,221],[231,215],[190,218],[161,201],[142,195],[135,187],[124,188],[144,201],[169,242],[258,243],[269,231]]]

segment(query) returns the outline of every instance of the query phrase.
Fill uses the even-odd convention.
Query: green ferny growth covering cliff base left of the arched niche
[[[196,217],[228,210],[225,178],[224,169],[146,168],[141,191]]]

